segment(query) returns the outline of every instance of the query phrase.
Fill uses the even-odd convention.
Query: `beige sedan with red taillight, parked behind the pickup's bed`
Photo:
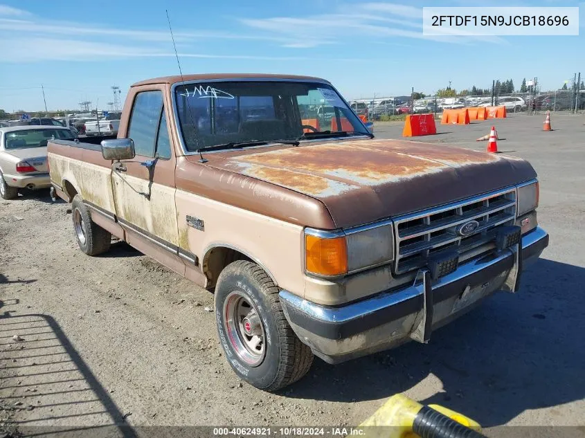
[[[47,140],[73,140],[65,127],[0,127],[0,197],[15,199],[21,188],[51,186],[47,167]]]

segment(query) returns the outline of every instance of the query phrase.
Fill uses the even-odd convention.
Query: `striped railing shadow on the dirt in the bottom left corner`
[[[6,309],[12,301],[0,302],[0,432],[136,437],[57,321],[41,314],[15,316]]]

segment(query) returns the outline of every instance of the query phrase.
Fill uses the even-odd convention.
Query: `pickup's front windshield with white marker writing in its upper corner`
[[[310,138],[323,131],[369,135],[339,94],[318,82],[185,84],[176,87],[175,98],[190,152],[228,143]]]

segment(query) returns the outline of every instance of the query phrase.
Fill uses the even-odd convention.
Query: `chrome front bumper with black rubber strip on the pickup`
[[[515,291],[521,268],[546,246],[548,234],[537,227],[523,235],[521,251],[507,248],[463,264],[427,286],[430,295],[424,284],[415,283],[340,307],[314,304],[284,290],[280,302],[300,340],[326,362],[339,363],[417,338],[415,332],[429,316],[427,296],[432,302],[429,332],[496,291]]]

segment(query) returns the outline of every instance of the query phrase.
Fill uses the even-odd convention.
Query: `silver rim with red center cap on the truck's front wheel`
[[[266,356],[264,324],[258,309],[242,291],[233,291],[224,300],[224,329],[235,354],[252,367]]]

